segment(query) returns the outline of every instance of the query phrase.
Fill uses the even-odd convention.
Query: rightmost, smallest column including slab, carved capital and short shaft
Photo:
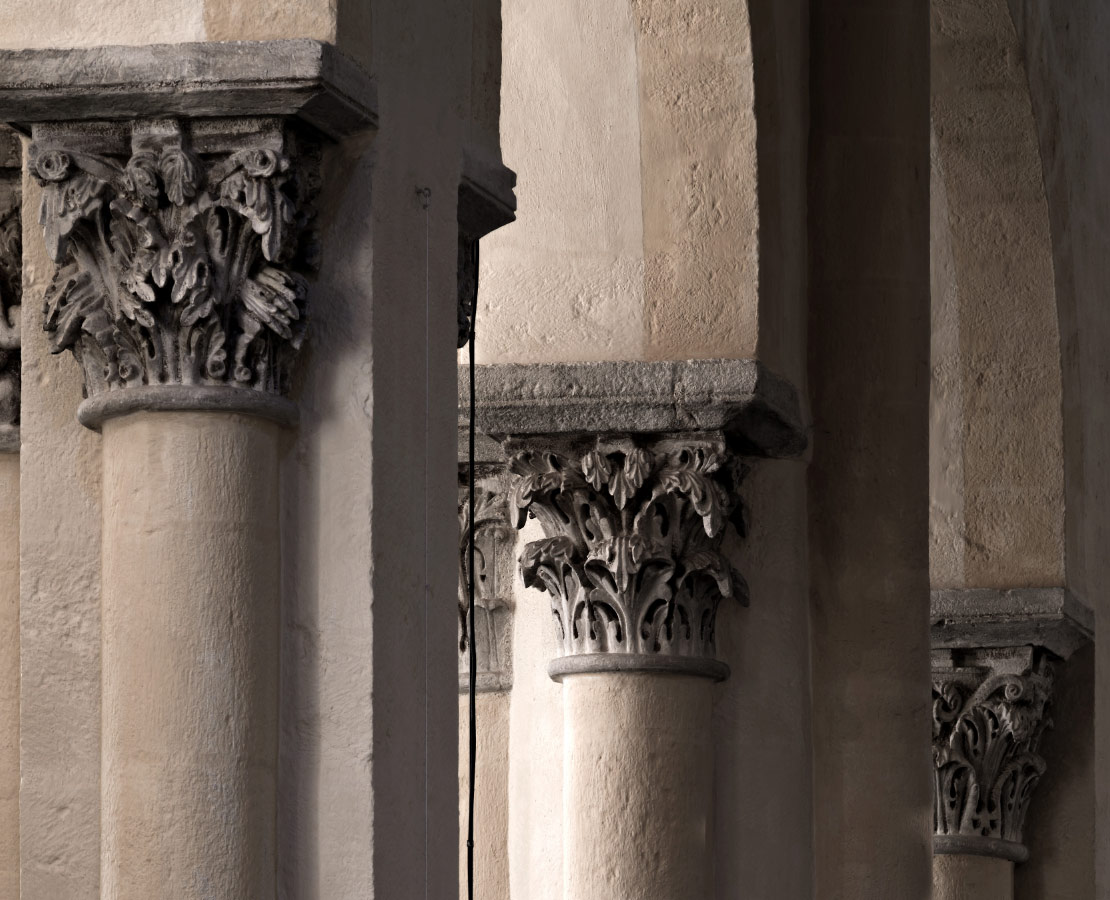
[[[1093,616],[1062,587],[937,589],[930,609],[934,896],[1012,900],[1053,673]]]

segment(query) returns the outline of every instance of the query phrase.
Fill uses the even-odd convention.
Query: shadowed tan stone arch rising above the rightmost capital
[[[1006,0],[934,0],[931,93],[932,586],[1060,586],[1052,243]]]

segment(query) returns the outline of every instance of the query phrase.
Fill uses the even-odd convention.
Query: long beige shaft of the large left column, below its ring
[[[279,426],[103,441],[102,896],[273,898]]]

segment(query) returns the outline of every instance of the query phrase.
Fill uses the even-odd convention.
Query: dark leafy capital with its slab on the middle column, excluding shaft
[[[460,446],[470,373],[460,368]],[[521,558],[547,591],[573,673],[670,671],[723,679],[716,616],[747,600],[723,553],[743,537],[744,457],[807,444],[797,392],[755,360],[483,365],[477,448],[513,473],[517,526],[544,539]]]

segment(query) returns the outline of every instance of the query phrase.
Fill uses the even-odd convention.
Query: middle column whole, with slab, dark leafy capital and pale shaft
[[[801,449],[793,392],[707,361],[484,366],[477,393],[483,431],[511,435],[515,524],[545,535],[521,569],[559,649],[564,896],[707,900],[716,620],[747,601],[725,546],[739,452]]]

